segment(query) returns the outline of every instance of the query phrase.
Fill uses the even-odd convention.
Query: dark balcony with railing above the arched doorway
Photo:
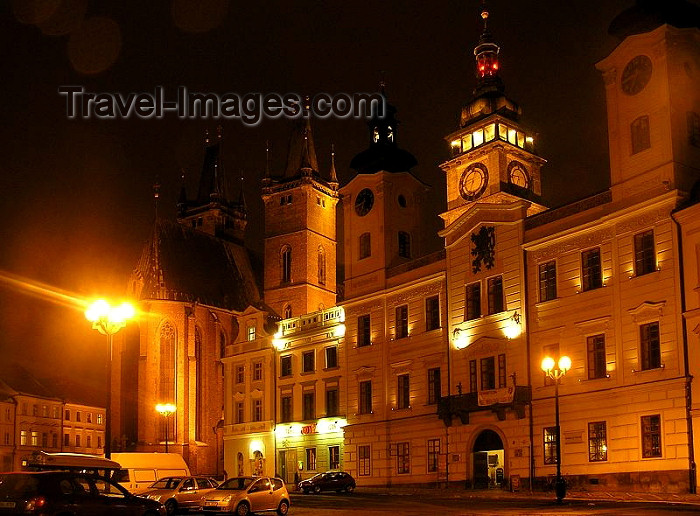
[[[468,425],[471,412],[485,410],[496,413],[499,421],[505,421],[508,410],[514,411],[518,419],[523,419],[525,406],[530,401],[532,401],[532,389],[525,385],[455,394],[440,398],[438,416],[444,421],[445,426],[451,426],[454,417],[458,417],[463,425]]]

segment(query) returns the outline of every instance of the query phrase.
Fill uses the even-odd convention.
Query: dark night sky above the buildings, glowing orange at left
[[[507,94],[539,133],[550,206],[608,186],[603,82],[594,64],[617,44],[610,21],[632,0],[496,0],[490,28],[501,45]],[[199,6],[191,11],[190,5]],[[162,85],[216,93],[375,91],[386,71],[401,120],[399,144],[433,185],[434,226],[444,209],[438,164],[474,87],[478,0],[97,2],[0,4],[0,269],[80,296],[120,295],[154,218],[174,217],[181,169],[193,194],[205,129],[214,120],[68,120],[61,85],[93,92]],[[90,73],[85,73],[90,72]],[[249,245],[261,248],[259,197],[265,140],[273,173],[286,159],[291,122],[223,121],[229,175],[243,175]],[[341,183],[366,148],[363,121],[314,123],[319,163],[337,150]],[[106,339],[82,314],[0,283],[0,360],[20,357],[40,375],[95,379]]]

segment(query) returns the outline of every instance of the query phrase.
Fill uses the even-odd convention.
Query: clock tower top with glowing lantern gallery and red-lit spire
[[[447,174],[449,226],[475,203],[507,204],[530,201],[528,215],[542,211],[540,168],[545,160],[535,153],[534,136],[520,124],[520,107],[505,96],[499,75],[500,48],[487,28],[474,48],[477,85],[462,108],[459,129],[446,137],[452,157],[441,165]]]

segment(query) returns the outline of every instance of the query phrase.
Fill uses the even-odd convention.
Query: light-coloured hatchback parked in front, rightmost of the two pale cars
[[[205,512],[232,512],[246,516],[251,512],[289,511],[289,493],[281,478],[234,477],[210,491],[202,506]]]

